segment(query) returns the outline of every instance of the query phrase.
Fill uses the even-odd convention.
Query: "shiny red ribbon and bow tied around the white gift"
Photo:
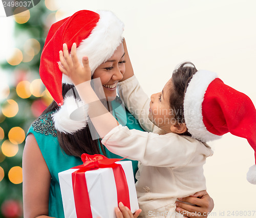
[[[103,155],[88,154],[82,154],[81,159],[83,162],[82,165],[72,167],[75,169],[79,168],[77,171],[72,173],[72,184],[77,217],[93,217],[84,172],[99,168],[113,169],[117,190],[117,203],[122,202],[126,207],[131,209],[129,189],[125,173],[122,166],[115,163],[116,161],[120,161],[123,159],[109,159]]]

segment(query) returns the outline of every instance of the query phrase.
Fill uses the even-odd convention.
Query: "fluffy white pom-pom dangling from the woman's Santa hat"
[[[77,109],[79,112],[72,116],[72,112]],[[74,113],[73,113],[74,114]],[[88,114],[84,110],[83,103],[81,100],[77,100],[72,96],[64,99],[63,105],[60,109],[52,115],[55,128],[62,133],[73,134],[78,130],[86,127],[88,122]]]

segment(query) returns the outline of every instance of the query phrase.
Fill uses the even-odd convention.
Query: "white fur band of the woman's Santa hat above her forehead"
[[[92,74],[100,64],[108,60],[122,42],[124,24],[111,11],[96,11],[100,18],[90,36],[81,41],[76,50],[78,60],[88,56]],[[62,83],[73,84],[67,76],[62,75]]]

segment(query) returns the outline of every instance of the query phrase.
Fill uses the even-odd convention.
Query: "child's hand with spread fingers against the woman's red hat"
[[[76,55],[76,43],[73,43],[71,48],[71,56],[69,55],[66,43],[63,44],[63,52],[59,51],[59,70],[67,75],[74,83],[78,85],[82,82],[91,80],[91,69],[89,67],[88,57],[82,58],[82,64],[78,61]]]

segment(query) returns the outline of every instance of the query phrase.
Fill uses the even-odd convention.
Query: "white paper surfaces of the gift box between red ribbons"
[[[118,161],[121,164],[130,195],[131,211],[139,209],[131,161]],[[72,185],[72,173],[78,169],[59,172],[59,184],[65,217],[77,217]],[[113,218],[117,204],[117,191],[112,168],[99,168],[84,173],[91,204],[93,218]]]

